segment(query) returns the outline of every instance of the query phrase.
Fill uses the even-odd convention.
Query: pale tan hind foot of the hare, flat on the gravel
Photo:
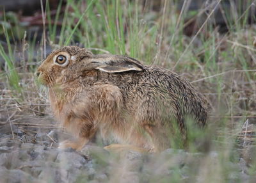
[[[127,152],[129,150],[140,152],[140,153],[150,152],[150,149],[148,149],[148,148],[140,148],[140,147],[136,147],[134,145],[117,144],[117,143],[113,143],[111,145],[105,146],[104,149],[106,149],[110,152],[116,152],[116,153]]]

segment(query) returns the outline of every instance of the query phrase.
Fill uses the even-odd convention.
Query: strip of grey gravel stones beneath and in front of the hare
[[[51,139],[47,140],[51,143]],[[253,152],[253,148],[249,151]],[[229,182],[254,180],[248,175],[250,164],[245,157],[238,163],[225,162]],[[81,152],[76,152],[72,148],[47,147],[41,142],[19,144],[4,139],[0,142],[0,182],[164,182],[172,177],[189,182],[198,171],[195,164],[202,163],[204,158],[214,163],[218,153],[189,153],[169,148],[159,154],[134,151],[113,154],[95,145],[86,145]]]

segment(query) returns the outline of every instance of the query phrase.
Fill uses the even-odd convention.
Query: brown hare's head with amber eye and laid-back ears
[[[86,77],[86,71],[100,70],[117,73],[129,70],[143,70],[137,60],[127,56],[110,54],[93,55],[87,49],[68,46],[53,51],[38,67],[38,79],[46,86],[72,81],[79,76]]]

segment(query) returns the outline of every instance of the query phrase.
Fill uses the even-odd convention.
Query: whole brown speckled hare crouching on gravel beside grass
[[[128,56],[67,46],[49,54],[36,74],[49,87],[54,116],[76,136],[60,148],[81,150],[100,132],[103,139],[159,152],[170,148],[175,126],[186,139],[186,117],[200,127],[207,120],[209,104],[188,81]]]

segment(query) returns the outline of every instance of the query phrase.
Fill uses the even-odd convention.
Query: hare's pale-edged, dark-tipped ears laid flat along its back
[[[143,65],[140,63],[140,61],[127,56],[98,55],[95,60],[97,60],[99,64],[97,67],[95,67],[95,69],[103,72],[116,73],[127,72],[129,70],[143,70]]]

